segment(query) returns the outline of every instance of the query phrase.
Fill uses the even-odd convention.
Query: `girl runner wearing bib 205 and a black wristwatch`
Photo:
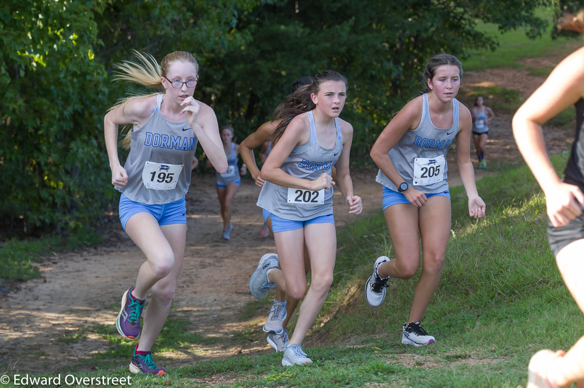
[[[419,269],[402,344],[421,346],[436,338],[420,321],[438,287],[450,237],[450,191],[446,153],[456,140],[457,164],[468,197],[468,214],[485,217],[470,158],[471,114],[456,100],[463,68],[453,55],[439,54],[426,64],[425,93],[409,101],[391,120],[371,149],[383,185],[383,211],[395,258],[380,256],[365,284],[365,297],[379,306],[391,278],[409,279]]]

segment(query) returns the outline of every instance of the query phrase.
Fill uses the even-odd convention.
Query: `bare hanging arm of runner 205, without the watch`
[[[472,168],[470,156],[471,143],[471,113],[463,104],[458,104],[459,116],[458,126],[460,130],[456,135],[456,162],[460,178],[463,181],[464,190],[468,197],[468,214],[474,218],[485,217],[485,203],[478,196],[477,185],[475,184],[474,168]]]

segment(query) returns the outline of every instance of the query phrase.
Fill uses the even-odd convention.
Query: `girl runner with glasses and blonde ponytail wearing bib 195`
[[[175,293],[186,243],[185,194],[189,189],[194,150],[200,142],[217,171],[227,170],[213,110],[193,98],[199,65],[189,52],[174,51],[160,65],[151,55],[135,52],[138,62],[117,65],[116,79],[164,92],[124,98],[103,119],[112,184],[121,192],[120,221],[146,261],[135,285],[121,298],[116,328],[140,341],[130,372],[164,376],[151,347],[158,337]],[[123,145],[130,148],[124,167],[118,157],[118,126],[130,126]],[[148,291],[150,302],[140,318]]]

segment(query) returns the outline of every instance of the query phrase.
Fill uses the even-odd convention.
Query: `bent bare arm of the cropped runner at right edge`
[[[517,147],[545,194],[554,227],[566,225],[582,213],[584,195],[577,186],[559,179],[545,150],[541,125],[584,96],[583,64],[584,48],[580,48],[556,66],[513,117]]]

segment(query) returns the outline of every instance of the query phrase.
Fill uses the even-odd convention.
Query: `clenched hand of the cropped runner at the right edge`
[[[551,224],[559,228],[582,214],[584,194],[578,186],[561,182],[545,192],[545,206]]]

